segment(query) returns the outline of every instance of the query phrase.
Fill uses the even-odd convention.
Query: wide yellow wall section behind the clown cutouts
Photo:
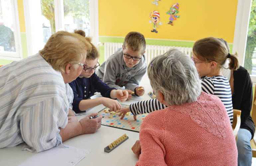
[[[124,37],[130,31],[141,32],[145,38],[196,41],[214,36],[232,43],[237,0],[98,0],[99,36]],[[179,3],[180,18],[174,26],[167,24],[170,7]],[[152,33],[149,14],[160,13],[158,33]]]

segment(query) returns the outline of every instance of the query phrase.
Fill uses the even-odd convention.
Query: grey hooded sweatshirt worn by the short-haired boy
[[[146,73],[147,63],[145,55],[133,67],[127,67],[123,59],[123,49],[117,49],[113,55],[100,65],[96,74],[111,88],[129,89],[134,91]]]

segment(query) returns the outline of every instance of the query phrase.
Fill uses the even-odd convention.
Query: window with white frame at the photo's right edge
[[[233,53],[238,51],[239,63],[256,82],[256,0],[238,0]],[[254,42],[254,43],[253,43]]]

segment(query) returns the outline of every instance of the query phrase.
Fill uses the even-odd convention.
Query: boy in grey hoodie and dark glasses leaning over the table
[[[142,96],[144,87],[139,86],[141,78],[146,73],[145,58],[146,41],[139,32],[130,32],[125,36],[122,48],[100,65],[97,75],[108,86],[128,91],[129,100],[132,95]],[[134,91],[134,92],[133,92]]]

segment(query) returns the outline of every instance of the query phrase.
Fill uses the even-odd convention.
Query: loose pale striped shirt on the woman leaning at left
[[[0,148],[25,142],[23,150],[40,152],[61,143],[69,88],[39,54],[0,67]]]

